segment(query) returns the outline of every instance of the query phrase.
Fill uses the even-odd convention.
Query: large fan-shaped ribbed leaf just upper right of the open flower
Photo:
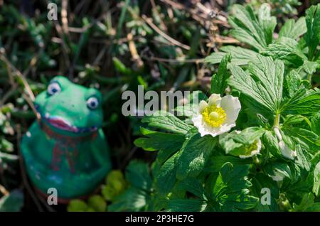
[[[262,109],[277,112],[282,101],[282,61],[257,55],[257,60],[249,64],[248,70],[249,73],[231,64],[233,78],[228,80],[229,85],[239,90],[252,103],[260,104]]]

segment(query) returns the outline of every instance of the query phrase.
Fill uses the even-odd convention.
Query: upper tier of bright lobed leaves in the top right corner
[[[270,16],[268,4],[262,4],[257,12],[251,6],[235,4],[229,16],[233,27],[230,34],[250,48],[226,45],[220,48],[220,52],[209,55],[206,62],[220,63],[223,55],[230,53],[233,64],[247,65],[260,53],[283,60],[286,67],[298,68],[302,77],[306,76],[311,80],[316,68],[319,68],[319,8],[319,4],[311,6],[305,17],[300,17],[297,21],[287,20],[279,29],[278,38],[274,40],[277,22],[276,18]]]

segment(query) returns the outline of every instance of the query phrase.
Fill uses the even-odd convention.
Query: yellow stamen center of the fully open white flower
[[[206,107],[201,114],[203,120],[211,127],[220,127],[227,117],[225,110],[215,104]]]

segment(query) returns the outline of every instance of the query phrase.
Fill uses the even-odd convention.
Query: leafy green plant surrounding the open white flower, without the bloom
[[[272,41],[267,33],[273,31],[274,19],[267,8],[258,12],[259,22],[250,7],[236,7],[239,12],[233,22],[242,26],[237,27],[240,32],[266,34],[255,39],[262,47],[255,48],[264,55],[255,53],[242,68],[242,63],[233,61],[233,53],[225,55],[211,81],[211,92],[240,97],[242,116],[240,112],[237,130],[218,137],[201,136],[191,125],[195,111],[181,119],[164,112],[161,117],[156,112],[143,119],[146,127],[161,130],[142,129],[148,138],[135,141],[147,151],[159,150],[153,194],[161,205],[153,205],[154,210],[316,211],[320,139],[319,114],[315,113],[320,111],[320,97],[296,67],[308,59],[294,40],[303,32],[289,22],[282,37]],[[265,24],[265,30],[257,29],[257,23],[260,28]],[[297,24],[303,24],[302,19]],[[269,204],[262,202],[265,188],[270,192]]]

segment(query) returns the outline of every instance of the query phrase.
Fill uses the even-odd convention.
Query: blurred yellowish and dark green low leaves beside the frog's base
[[[132,160],[125,170],[108,173],[101,195],[87,201],[71,200],[69,212],[146,211],[151,210],[152,178],[147,163]]]

